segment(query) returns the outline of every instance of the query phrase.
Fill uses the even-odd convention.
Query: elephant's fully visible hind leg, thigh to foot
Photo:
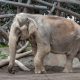
[[[77,41],[72,44],[71,50],[68,52],[67,61],[63,72],[73,72],[72,62],[74,57],[77,55],[78,50],[79,50],[79,43]]]

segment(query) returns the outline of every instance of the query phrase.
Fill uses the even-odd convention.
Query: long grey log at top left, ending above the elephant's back
[[[47,10],[46,6],[28,5],[28,4],[24,4],[24,3],[20,3],[20,2],[0,0],[0,3],[6,3],[6,4],[11,4],[11,5],[21,6],[21,7],[26,7],[26,8],[32,8],[32,9]]]

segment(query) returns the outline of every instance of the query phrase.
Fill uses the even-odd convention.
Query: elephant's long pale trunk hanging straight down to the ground
[[[9,56],[10,56],[10,61],[9,61],[9,66],[8,66],[8,71],[9,73],[13,73],[13,66],[15,63],[15,56],[16,56],[16,47],[17,47],[17,36],[15,35],[14,32],[11,32],[9,35]]]

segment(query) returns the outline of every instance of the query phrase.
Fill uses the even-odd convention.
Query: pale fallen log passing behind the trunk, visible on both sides
[[[32,50],[24,52],[24,53],[21,53],[21,54],[16,54],[16,59],[20,59],[22,57],[26,57],[28,55],[32,55],[31,53],[32,53]],[[8,59],[3,59],[3,60],[0,61],[0,68],[6,66],[8,64],[9,64],[9,58]]]

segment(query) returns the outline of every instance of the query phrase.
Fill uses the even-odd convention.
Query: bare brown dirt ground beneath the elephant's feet
[[[46,69],[47,74],[34,74],[33,69],[24,72],[16,67],[16,73],[9,74],[5,67],[0,69],[0,80],[80,80],[80,69],[74,69],[74,73],[62,73],[60,67],[47,66]]]

